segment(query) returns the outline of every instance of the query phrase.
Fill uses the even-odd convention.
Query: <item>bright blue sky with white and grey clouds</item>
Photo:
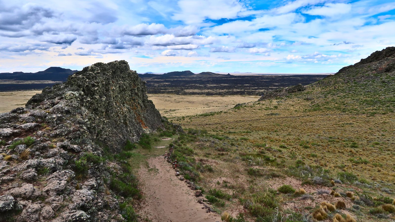
[[[395,46],[395,0],[0,0],[0,72],[328,73]]]

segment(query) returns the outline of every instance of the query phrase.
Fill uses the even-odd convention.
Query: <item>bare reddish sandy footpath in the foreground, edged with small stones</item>
[[[154,170],[149,171],[143,165],[139,170],[145,196],[139,212],[142,216],[155,222],[221,221],[218,214],[201,209],[203,205],[196,202],[194,191],[175,176],[163,156],[150,158],[148,164]]]

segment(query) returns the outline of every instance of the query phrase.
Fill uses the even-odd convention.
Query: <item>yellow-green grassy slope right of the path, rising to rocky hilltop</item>
[[[306,221],[319,218],[322,201],[344,201],[345,208],[326,212],[326,221],[341,221],[336,213],[357,221],[394,220],[394,78],[390,47],[305,91],[171,120],[190,132],[207,130],[190,144],[196,159],[213,166],[201,173],[201,183],[237,194],[219,211],[243,206],[253,220],[296,213],[299,219],[290,221]]]

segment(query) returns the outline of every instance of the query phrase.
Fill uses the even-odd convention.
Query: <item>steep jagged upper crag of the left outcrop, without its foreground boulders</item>
[[[65,83],[45,88],[27,109],[49,113],[46,122],[70,129],[71,141],[89,134],[119,151],[126,140],[162,127],[161,116],[148,100],[145,83],[126,61],[96,63],[71,75]]]

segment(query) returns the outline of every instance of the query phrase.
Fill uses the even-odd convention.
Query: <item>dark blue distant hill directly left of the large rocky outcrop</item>
[[[60,67],[49,67],[44,71],[35,73],[24,73],[21,71],[13,73],[0,73],[0,80],[15,80],[15,81],[36,81],[36,80],[50,80],[50,81],[66,81],[69,75],[78,70],[64,69]]]

